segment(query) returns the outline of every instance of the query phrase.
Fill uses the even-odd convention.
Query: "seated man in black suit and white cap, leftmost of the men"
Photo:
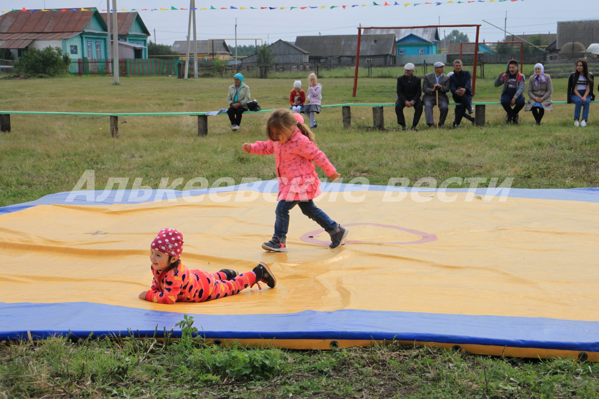
[[[420,89],[420,78],[414,76],[414,64],[409,62],[404,66],[406,70],[403,76],[397,78],[397,102],[395,103],[395,115],[397,123],[401,124],[401,130],[407,130],[404,108],[414,108],[414,120],[412,130],[418,132],[418,121],[422,115],[422,90]]]

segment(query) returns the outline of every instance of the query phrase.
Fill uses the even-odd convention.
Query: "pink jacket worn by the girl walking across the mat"
[[[320,166],[327,176],[337,172],[325,153],[302,135],[299,129],[295,129],[291,138],[283,144],[272,140],[256,141],[250,145],[250,154],[274,154],[279,201],[310,200],[320,195],[320,179],[312,162]]]

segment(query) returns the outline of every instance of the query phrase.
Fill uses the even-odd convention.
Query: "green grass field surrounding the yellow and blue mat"
[[[396,71],[399,71],[396,69]],[[486,69],[487,76],[489,69]],[[332,72],[332,71],[331,71]],[[391,71],[392,72],[392,71]],[[498,72],[498,71],[497,71]],[[394,102],[394,75],[324,77],[323,104]],[[351,76],[351,75],[350,75]],[[287,107],[296,78],[247,79],[264,109]],[[497,101],[493,78],[477,80],[477,101]],[[229,78],[168,77],[0,80],[0,111],[168,112],[223,108]],[[553,100],[565,100],[566,81],[553,82]],[[452,107],[451,107],[452,108]],[[450,108],[448,118],[453,109]],[[352,108],[342,129],[341,109],[318,115],[319,147],[343,181],[372,184],[407,177],[513,178],[513,187],[599,185],[599,138],[591,105],[586,129],[573,126],[573,106],[556,105],[536,126],[529,112],[519,126],[503,123],[500,106],[488,106],[483,128],[419,132],[372,131],[370,107]],[[523,111],[524,112],[524,111]],[[407,111],[408,117],[411,111]],[[111,177],[135,178],[158,188],[162,177],[274,178],[274,159],[243,153],[241,144],[264,140],[268,114],[246,115],[231,132],[225,115],[208,117],[207,137],[195,117],[120,117],[120,139],[109,137],[108,117],[13,115],[0,133],[0,206],[71,190],[84,170],[95,170],[96,189]],[[397,127],[392,107],[387,127]],[[125,123],[126,122],[126,123]],[[453,186],[455,187],[455,186]],[[116,187],[115,187],[116,188]],[[183,187],[176,187],[182,189]],[[599,398],[599,366],[576,360],[494,358],[399,345],[305,352],[214,348],[191,339],[80,340],[0,345],[0,398]]]

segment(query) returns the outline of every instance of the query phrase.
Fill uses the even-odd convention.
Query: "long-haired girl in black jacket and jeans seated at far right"
[[[568,104],[574,103],[574,126],[586,126],[589,117],[591,100],[595,99],[593,93],[593,74],[589,73],[589,65],[586,60],[580,59],[576,62],[576,71],[568,78]],[[578,122],[582,108],[582,121]]]

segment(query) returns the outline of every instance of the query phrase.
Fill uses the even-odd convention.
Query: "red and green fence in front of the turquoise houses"
[[[177,75],[179,60],[162,60],[156,58],[122,58],[119,59],[120,76]],[[71,75],[113,76],[113,60],[111,59],[75,59],[69,66]]]

